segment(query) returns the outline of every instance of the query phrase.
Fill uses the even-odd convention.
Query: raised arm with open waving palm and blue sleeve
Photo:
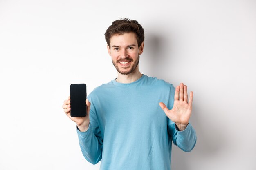
[[[192,111],[193,92],[190,93],[187,102],[187,87],[183,83],[176,89],[171,85],[168,106],[159,103],[167,116],[168,133],[171,135],[173,143],[185,152],[191,151],[196,143],[196,133],[189,122]]]

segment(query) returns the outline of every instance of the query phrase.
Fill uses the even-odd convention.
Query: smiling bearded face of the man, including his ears
[[[117,71],[128,75],[138,69],[139,55],[142,54],[143,47],[144,42],[139,48],[135,33],[124,33],[123,35],[113,35],[110,38],[108,53]]]

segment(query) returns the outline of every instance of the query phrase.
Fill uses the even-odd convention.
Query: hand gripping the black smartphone
[[[89,102],[88,99],[86,99],[86,117],[72,117],[70,115],[70,96],[67,98],[67,100],[64,101],[64,104],[62,105],[62,108],[64,109],[64,112],[66,113],[67,117],[69,117],[72,121],[74,121],[77,124],[77,127],[79,128],[80,131],[86,131],[88,129],[90,119],[89,119],[89,114],[90,114],[90,106],[91,103]]]

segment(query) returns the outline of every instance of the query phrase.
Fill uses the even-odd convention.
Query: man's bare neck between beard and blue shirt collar
[[[142,74],[139,72],[139,69],[137,66],[137,68],[128,75],[122,75],[119,72],[117,72],[116,81],[119,83],[132,83],[132,82],[135,82],[137,79],[139,79],[141,76]]]

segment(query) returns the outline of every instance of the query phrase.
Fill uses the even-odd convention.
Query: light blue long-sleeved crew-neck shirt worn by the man
[[[172,84],[146,75],[95,88],[88,96],[89,128],[77,130],[85,159],[101,161],[100,170],[170,170],[172,141],[185,152],[196,143],[191,124],[178,131],[159,106],[171,109],[174,94]]]

